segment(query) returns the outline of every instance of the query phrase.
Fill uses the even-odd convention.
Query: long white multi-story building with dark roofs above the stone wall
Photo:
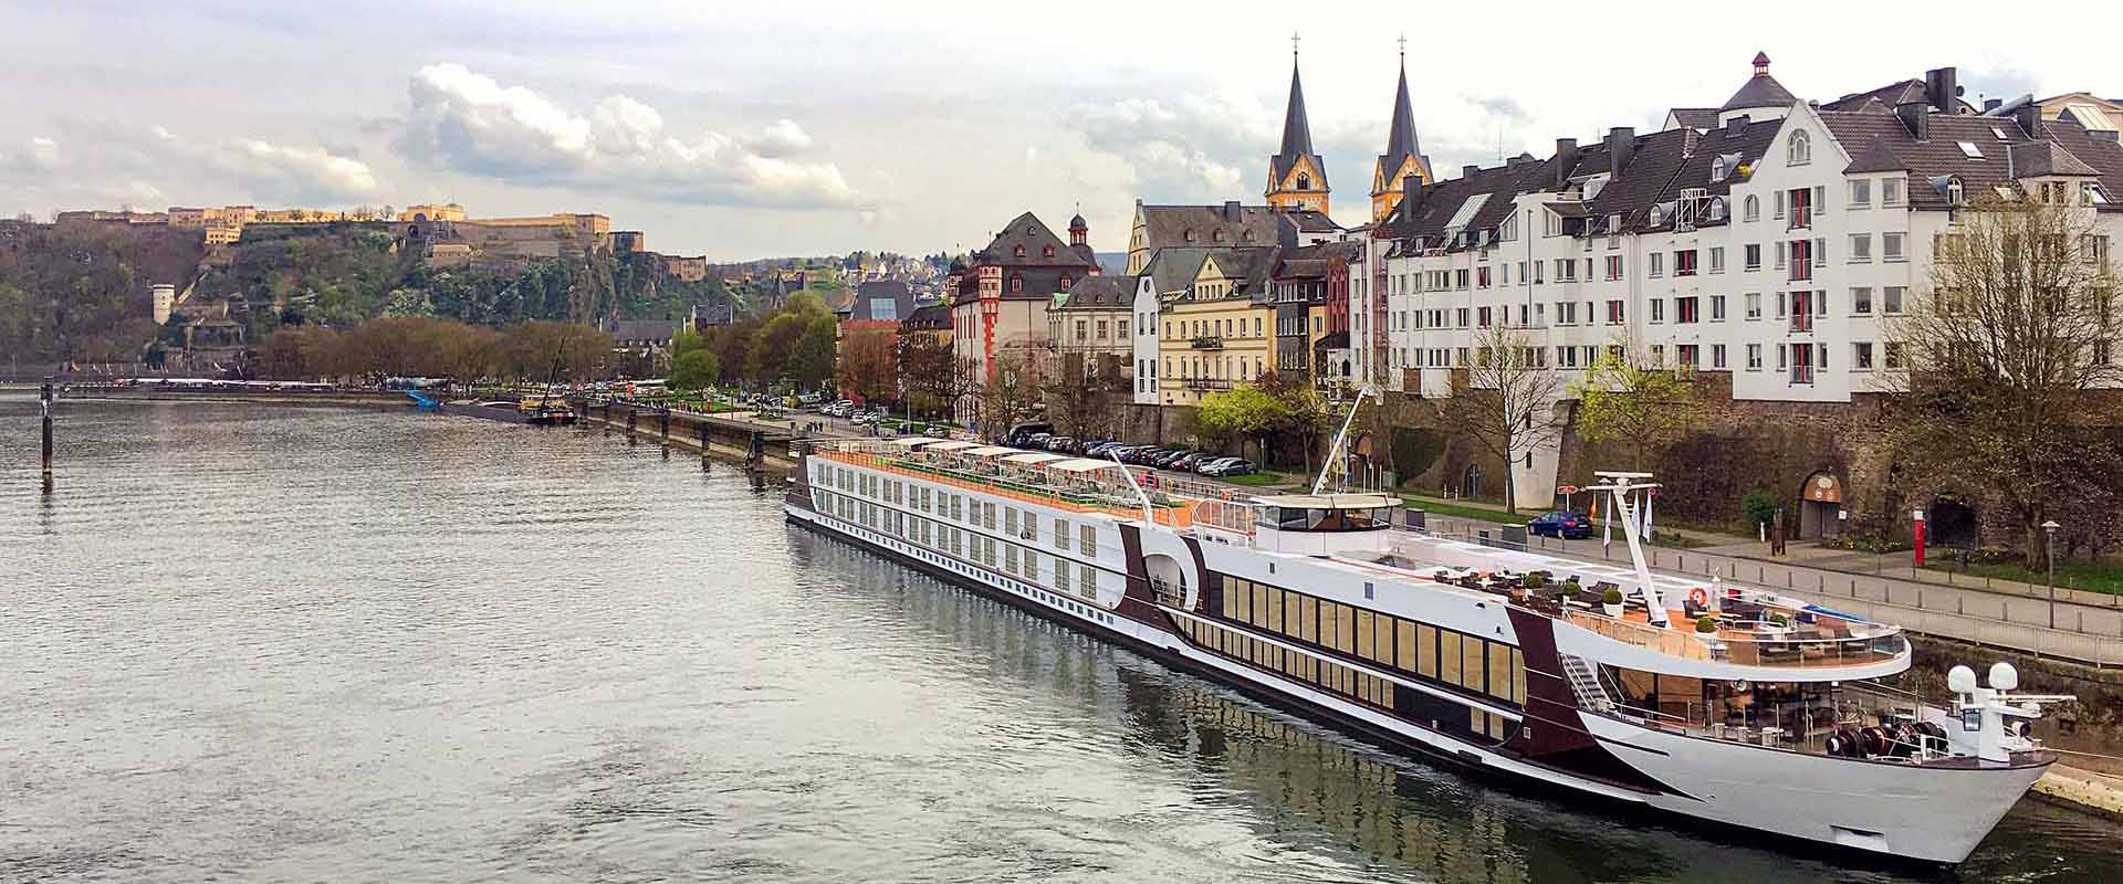
[[[1613,352],[1728,373],[1737,401],[1849,403],[1902,369],[1883,322],[1919,297],[1970,195],[2059,193],[2123,220],[2112,131],[2032,104],[1979,114],[1953,68],[1834,102],[1845,110],[1794,98],[1766,55],[1754,68],[1715,119],[1679,108],[1662,131],[1565,138],[1548,159],[1410,187],[1354,288],[1359,375],[1450,394],[1503,324],[1565,373]],[[1520,505],[1548,502],[1556,464],[1554,447],[1512,464]]]

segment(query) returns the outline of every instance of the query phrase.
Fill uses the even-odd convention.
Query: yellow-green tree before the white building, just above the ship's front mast
[[[1681,441],[1701,411],[1692,377],[1652,365],[1635,348],[1607,348],[1584,379],[1571,384],[1571,392],[1577,396],[1577,437],[1620,443],[1633,471],[1650,471],[1652,460]]]

